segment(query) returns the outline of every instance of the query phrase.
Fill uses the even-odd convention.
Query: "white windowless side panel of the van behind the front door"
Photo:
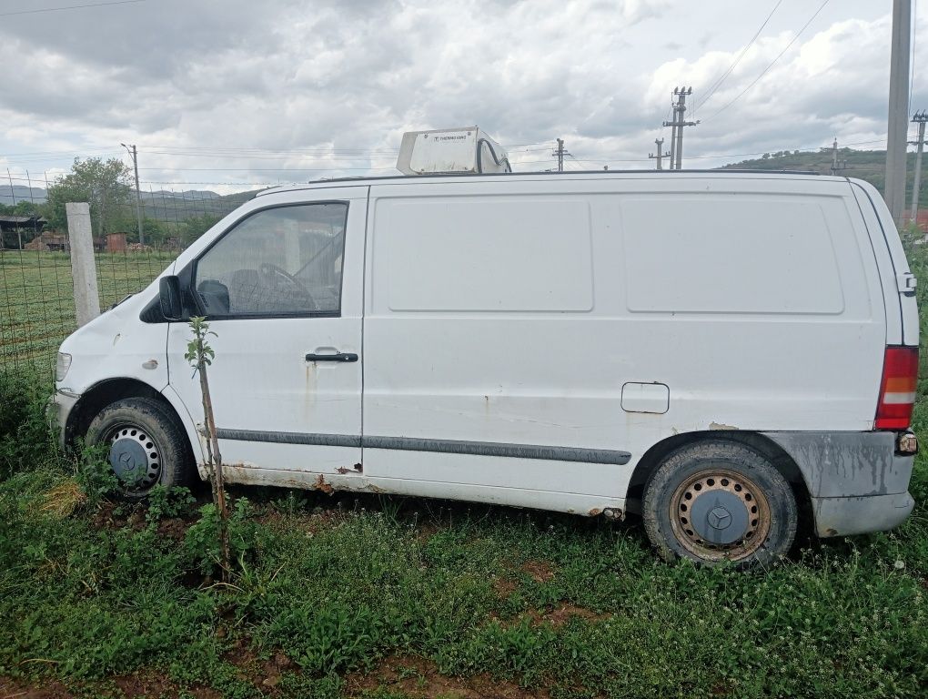
[[[366,447],[366,475],[612,501],[673,434],[872,429],[886,317],[849,189],[763,176],[373,186],[364,434],[631,458]]]

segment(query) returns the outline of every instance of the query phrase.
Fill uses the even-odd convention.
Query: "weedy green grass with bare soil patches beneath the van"
[[[928,252],[910,261],[928,278]],[[928,687],[924,453],[916,511],[896,531],[806,540],[752,573],[661,563],[636,523],[243,488],[226,585],[212,505],[182,490],[148,505],[100,498],[100,473],[47,439],[37,381],[0,382],[4,404],[22,407],[0,421],[0,695],[915,697]],[[922,372],[914,419],[923,444],[926,381]]]

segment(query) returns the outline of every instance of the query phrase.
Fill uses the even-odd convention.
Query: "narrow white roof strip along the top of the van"
[[[570,172],[534,172],[534,173],[482,173],[482,174],[470,174],[470,173],[448,173],[440,175],[380,175],[374,177],[368,177],[365,175],[353,176],[353,177],[333,177],[332,179],[325,180],[316,180],[315,182],[306,182],[306,183],[294,183],[291,185],[281,185],[279,187],[272,187],[264,189],[258,192],[255,196],[262,197],[265,194],[276,194],[277,192],[292,191],[297,189],[315,189],[315,188],[326,188],[331,187],[332,185],[354,185],[354,186],[366,186],[368,184],[376,184],[381,182],[389,182],[391,184],[400,184],[400,183],[413,183],[413,182],[428,182],[428,181],[447,181],[447,180],[492,180],[500,177],[505,178],[515,178],[515,179],[541,179],[545,177],[562,177],[567,179],[603,179],[607,177],[616,177],[618,179],[628,179],[630,177],[635,177],[639,179],[654,179],[657,177],[686,177],[689,175],[696,175],[697,177],[704,177],[705,175],[712,175],[712,177],[743,177],[743,175],[751,175],[755,178],[766,179],[767,177],[771,178],[799,178],[805,179],[806,177],[815,177],[816,179],[822,180],[831,180],[831,181],[847,181],[848,177],[841,175],[819,175],[816,172],[804,171],[804,170],[572,170]]]

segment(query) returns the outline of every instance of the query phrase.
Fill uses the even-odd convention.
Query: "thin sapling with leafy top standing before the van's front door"
[[[219,550],[220,566],[225,580],[230,570],[229,560],[229,527],[228,508],[226,507],[226,481],[223,477],[223,457],[219,453],[219,439],[216,437],[216,421],[213,417],[213,399],[210,397],[210,382],[206,375],[206,368],[213,364],[216,356],[213,347],[207,341],[209,335],[216,337],[210,330],[210,324],[205,317],[190,318],[190,330],[193,330],[193,339],[187,343],[187,353],[184,358],[193,367],[194,372],[200,374],[200,395],[203,399],[203,436],[206,438],[206,473],[210,479],[213,490],[213,505],[219,514]]]

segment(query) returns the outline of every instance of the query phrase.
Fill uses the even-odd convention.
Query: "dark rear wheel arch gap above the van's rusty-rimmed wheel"
[[[644,498],[645,485],[648,485],[651,473],[664,459],[677,449],[708,441],[728,441],[754,449],[767,459],[793,488],[793,495],[796,498],[796,504],[799,506],[800,519],[805,519],[811,514],[808,484],[793,457],[767,435],[741,430],[705,430],[674,434],[653,445],[638,460],[635,471],[632,472],[627,495],[625,496],[626,510],[635,514],[641,513],[641,501]]]

